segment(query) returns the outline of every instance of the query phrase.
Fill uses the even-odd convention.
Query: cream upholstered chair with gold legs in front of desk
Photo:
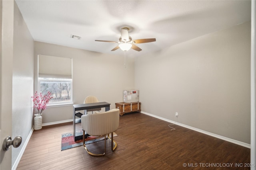
[[[104,111],[95,114],[82,115],[81,124],[83,133],[83,144],[84,149],[88,152],[88,154],[93,156],[104,155],[106,152],[106,135],[108,135],[108,139],[111,141],[111,150],[114,151],[116,149],[116,142],[114,141],[113,132],[116,131],[119,127],[119,109],[112,109],[109,111]],[[91,136],[102,136],[104,135],[104,153],[94,154],[90,152],[85,146],[85,132],[87,132]],[[109,134],[111,133],[111,138]],[[114,147],[113,147],[114,143]]]

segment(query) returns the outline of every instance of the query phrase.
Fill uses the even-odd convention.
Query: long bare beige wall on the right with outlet
[[[138,57],[135,87],[146,113],[250,144],[250,22]]]

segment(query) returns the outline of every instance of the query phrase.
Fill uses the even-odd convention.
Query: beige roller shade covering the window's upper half
[[[44,78],[72,78],[72,59],[38,55],[38,76]]]

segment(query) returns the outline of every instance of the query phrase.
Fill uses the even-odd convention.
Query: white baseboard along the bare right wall
[[[141,111],[140,113],[143,113],[145,115],[149,115],[149,116],[152,116],[152,117],[156,117],[158,119],[161,119],[161,120],[164,120],[164,121],[167,121],[167,122],[170,122],[170,123],[175,123],[175,125],[179,125],[179,126],[182,126],[182,127],[186,127],[188,129],[191,129],[193,131],[197,131],[197,132],[200,132],[200,133],[204,133],[206,135],[209,135],[209,136],[212,136],[212,137],[216,137],[218,139],[222,139],[224,141],[228,141],[228,142],[231,142],[231,143],[234,143],[234,144],[237,144],[237,145],[240,145],[240,146],[243,146],[243,147],[246,147],[246,148],[251,148],[251,145],[248,144],[248,143],[244,143],[244,142],[241,142],[241,141],[236,141],[234,139],[230,139],[230,138],[227,138],[227,137],[224,137],[224,136],[220,136],[220,135],[216,135],[214,133],[210,133],[210,132],[207,132],[207,131],[203,131],[201,129],[197,129],[195,127],[191,127],[191,126],[188,126],[188,125],[184,125],[182,123],[178,123],[176,121],[172,121],[172,120],[169,120],[169,119],[165,119],[163,117],[160,117],[160,116],[157,116],[157,115],[152,115],[150,113],[147,113],[147,112],[144,112],[144,111]]]

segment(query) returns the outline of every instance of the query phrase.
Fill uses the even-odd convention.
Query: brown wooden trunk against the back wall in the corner
[[[132,103],[116,103],[116,109],[120,110],[120,115],[124,115],[125,113],[130,113],[134,111],[140,112],[140,102],[132,102]]]

